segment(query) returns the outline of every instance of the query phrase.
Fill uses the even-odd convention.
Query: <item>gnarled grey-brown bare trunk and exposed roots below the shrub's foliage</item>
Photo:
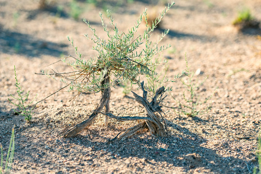
[[[108,117],[117,119],[119,121],[126,121],[126,120],[145,120],[138,125],[127,129],[123,134],[121,134],[123,131],[118,133],[118,135],[113,138],[111,141],[114,140],[124,140],[127,137],[135,134],[138,131],[142,131],[145,128],[148,128],[150,132],[157,136],[167,136],[168,130],[167,130],[167,124],[164,120],[161,113],[163,113],[161,107],[159,105],[160,102],[162,102],[165,97],[162,97],[165,92],[165,87],[160,87],[153,97],[151,102],[148,102],[147,100],[147,91],[143,87],[144,82],[141,83],[141,89],[143,90],[143,97],[140,97],[135,92],[132,92],[136,101],[140,104],[142,104],[146,111],[147,111],[147,117],[143,116],[114,116],[113,114],[109,113],[109,98],[110,98],[110,88],[107,88],[103,91],[102,99],[100,101],[100,104],[96,107],[96,109],[93,111],[92,115],[89,116],[89,118],[82,123],[77,124],[72,129],[66,131],[63,135],[63,137],[71,137],[82,131],[83,129],[89,127],[92,124],[92,121],[95,119],[95,117],[98,114],[103,114],[105,116],[105,125],[107,125]],[[102,109],[105,107],[106,113],[101,112]],[[159,115],[155,114],[158,113]],[[164,122],[165,127],[163,125]]]

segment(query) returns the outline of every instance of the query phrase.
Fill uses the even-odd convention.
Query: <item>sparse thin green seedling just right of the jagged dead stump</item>
[[[199,110],[198,106],[205,104],[208,100],[212,98],[212,96],[205,98],[202,102],[200,102],[201,96],[196,94],[196,90],[199,89],[199,87],[205,82],[207,77],[201,82],[198,83],[198,80],[194,80],[194,72],[191,72],[188,66],[187,59],[186,61],[186,75],[188,76],[188,82],[186,83],[182,78],[181,82],[185,86],[186,90],[183,92],[183,102],[178,101],[181,110],[181,113],[186,116],[198,116],[200,114],[203,114],[204,112],[207,112],[209,109],[211,109],[211,103],[206,106],[203,110]],[[176,100],[176,99],[175,99]]]

